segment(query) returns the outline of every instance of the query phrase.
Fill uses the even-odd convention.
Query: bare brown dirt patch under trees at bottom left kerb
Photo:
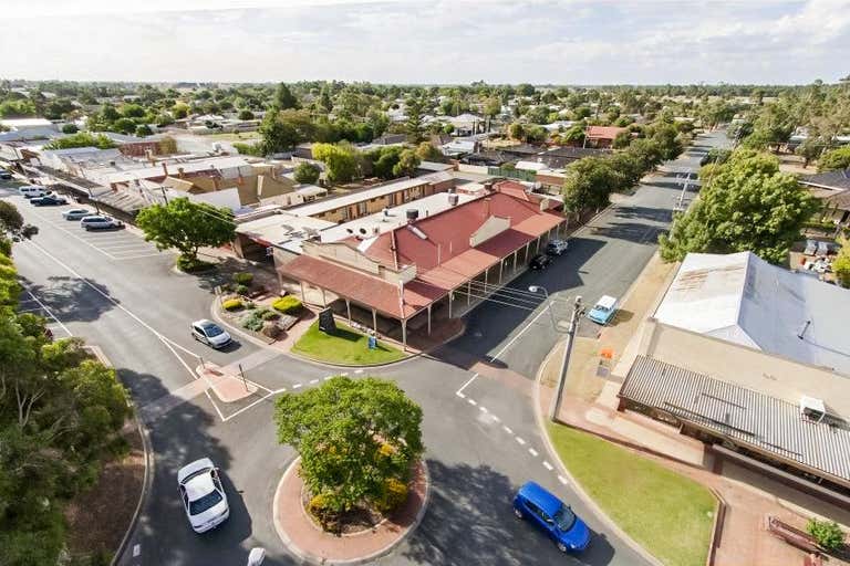
[[[145,476],[142,437],[133,427],[126,432],[129,452],[106,463],[97,483],[65,509],[68,546],[74,556],[115,553],[133,521]]]

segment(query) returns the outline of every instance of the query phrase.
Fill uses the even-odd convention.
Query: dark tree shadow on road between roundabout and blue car
[[[428,510],[401,549],[414,564],[605,565],[614,556],[613,547],[597,533],[584,553],[561,554],[546,534],[515,517],[511,501],[519,485],[487,465],[428,460]]]

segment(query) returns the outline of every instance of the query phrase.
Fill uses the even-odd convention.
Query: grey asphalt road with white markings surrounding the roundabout
[[[714,135],[698,145],[722,143],[722,135]],[[706,149],[699,146],[672,166],[693,169]],[[588,303],[602,294],[621,295],[654,252],[681,188],[681,180],[673,177],[642,187],[572,238],[570,250],[552,268],[522,275],[512,286],[542,284],[556,298],[582,294]],[[268,359],[247,340],[228,352],[205,348],[193,340],[188,324],[209,316],[216,277],[175,273],[174,258],[156,253],[133,231],[87,234],[76,222],[62,220],[62,207],[35,209],[11,190],[4,195],[40,228],[32,241],[13,250],[34,297],[24,297],[27,306],[54,317],[53,325],[62,333],[66,328],[101,346],[143,413],[187,390],[197,377],[198,356],[222,365],[245,360],[248,378],[268,390],[311,387],[335,373],[282,355]],[[122,253],[125,250],[132,252]],[[558,304],[560,317],[568,305]],[[423,524],[376,564],[644,563],[605,533],[603,523],[546,461],[530,399],[531,378],[556,342],[541,310],[484,303],[468,315],[467,334],[446,348],[494,359],[494,365],[511,369],[514,379],[476,377],[450,356],[370,371],[396,379],[423,407],[433,481]],[[590,331],[582,332],[592,332],[584,327]],[[456,395],[462,388],[463,398]],[[298,563],[270,522],[274,488],[294,455],[276,441],[272,401],[273,395],[265,390],[237,403],[221,403],[200,392],[147,423],[155,452],[153,489],[122,564],[240,565],[253,546],[267,549],[266,564]],[[230,520],[205,535],[189,528],[176,490],[177,469],[200,457],[211,458],[222,469],[231,504]],[[529,479],[570,502],[587,520],[597,536],[585,553],[563,556],[540,533],[514,518],[510,499]]]

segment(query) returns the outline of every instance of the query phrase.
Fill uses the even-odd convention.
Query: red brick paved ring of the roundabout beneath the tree
[[[307,511],[309,494],[299,475],[296,458],[278,483],[272,500],[272,521],[290,553],[310,564],[364,564],[390,553],[419,525],[427,509],[431,478],[427,464],[419,460],[413,470],[406,502],[374,524],[363,524],[351,532],[323,531]]]

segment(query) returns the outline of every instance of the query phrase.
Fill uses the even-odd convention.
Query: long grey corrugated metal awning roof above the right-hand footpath
[[[801,416],[798,405],[643,356],[620,397],[850,483],[847,422],[817,422]]]

